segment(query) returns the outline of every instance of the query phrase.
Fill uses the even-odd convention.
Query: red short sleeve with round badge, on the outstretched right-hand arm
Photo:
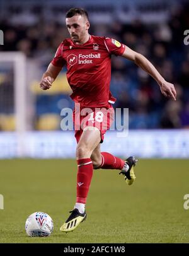
[[[125,44],[121,44],[113,38],[105,37],[105,46],[110,54],[122,55],[125,51]]]

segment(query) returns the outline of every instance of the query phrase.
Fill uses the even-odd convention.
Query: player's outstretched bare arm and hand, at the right
[[[165,97],[170,97],[171,99],[176,101],[176,90],[174,85],[172,83],[166,82],[163,76],[159,74],[159,72],[148,59],[146,59],[142,54],[133,51],[129,47],[125,48],[122,56],[126,59],[129,59],[130,61],[134,61],[137,66],[149,73],[149,75],[151,75],[152,78],[154,78],[158,83],[161,93]]]

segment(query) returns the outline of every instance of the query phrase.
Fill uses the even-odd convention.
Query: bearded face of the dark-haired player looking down
[[[66,18],[66,26],[73,42],[82,43],[88,35],[89,21],[84,16]]]

